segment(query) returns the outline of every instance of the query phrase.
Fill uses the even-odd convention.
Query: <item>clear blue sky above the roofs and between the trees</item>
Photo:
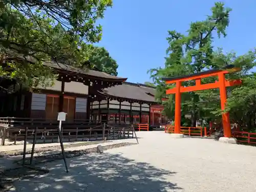
[[[127,81],[150,81],[148,69],[164,65],[168,30],[185,33],[191,22],[210,14],[213,0],[113,0],[113,8],[100,20],[105,47],[117,61],[118,76]],[[216,47],[244,54],[256,47],[255,0],[225,0],[232,8],[227,37],[215,41]]]

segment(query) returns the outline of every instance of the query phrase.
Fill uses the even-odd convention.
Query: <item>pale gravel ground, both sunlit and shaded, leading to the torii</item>
[[[14,191],[256,191],[256,147],[163,132],[138,136],[139,145],[69,159],[68,174],[62,161],[48,163],[49,174],[16,182]]]

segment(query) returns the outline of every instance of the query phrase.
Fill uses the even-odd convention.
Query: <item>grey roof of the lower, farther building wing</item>
[[[116,98],[156,102],[154,96],[148,95],[148,93],[154,93],[154,90],[153,87],[139,83],[123,82],[121,85],[102,90],[101,94]]]

